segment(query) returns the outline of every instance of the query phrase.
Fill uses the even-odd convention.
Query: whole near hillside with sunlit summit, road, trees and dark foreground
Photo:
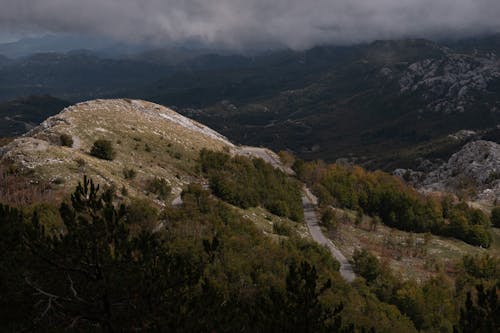
[[[380,171],[237,146],[143,100],[87,101],[0,148],[0,318],[12,331],[452,332],[481,316],[493,331],[493,229]]]

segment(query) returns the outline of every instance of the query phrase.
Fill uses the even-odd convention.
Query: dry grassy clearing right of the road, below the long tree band
[[[493,229],[493,243],[490,249],[469,245],[453,238],[439,237],[430,233],[411,233],[378,224],[372,227],[372,218],[363,216],[363,222],[355,226],[356,213],[334,209],[339,221],[333,232],[327,236],[334,241],[348,258],[357,248],[365,248],[380,260],[399,272],[403,278],[427,280],[438,272],[453,277],[454,266],[462,256],[489,253],[499,255],[500,231]],[[351,217],[351,218],[345,218]]]

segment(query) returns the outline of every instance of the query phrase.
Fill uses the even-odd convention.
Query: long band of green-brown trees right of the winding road
[[[357,166],[295,163],[298,177],[312,186],[321,205],[378,216],[390,227],[455,237],[472,245],[491,244],[490,218],[451,196],[422,195],[403,180]]]

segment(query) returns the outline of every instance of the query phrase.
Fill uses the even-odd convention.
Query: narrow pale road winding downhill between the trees
[[[347,258],[335,247],[331,240],[323,235],[319,225],[318,217],[316,216],[316,206],[318,199],[311,193],[311,191],[304,187],[302,195],[302,205],[304,206],[304,219],[309,229],[309,233],[315,242],[320,245],[326,246],[332,256],[340,263],[340,275],[347,281],[353,282],[356,278],[351,264]]]

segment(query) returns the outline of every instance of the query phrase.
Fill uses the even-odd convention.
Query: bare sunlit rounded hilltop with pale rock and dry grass
[[[71,144],[63,145],[64,136]],[[111,142],[116,153],[113,161],[89,154],[97,139]],[[196,160],[204,148],[279,161],[266,149],[236,147],[163,106],[124,99],[70,106],[4,146],[0,161],[20,175],[29,175],[30,182],[36,179],[36,184],[51,187],[48,195],[54,198],[75,186],[83,174],[137,197],[144,196],[148,181],[159,177],[177,195],[187,184],[201,182]],[[134,174],[133,181],[127,173]]]

